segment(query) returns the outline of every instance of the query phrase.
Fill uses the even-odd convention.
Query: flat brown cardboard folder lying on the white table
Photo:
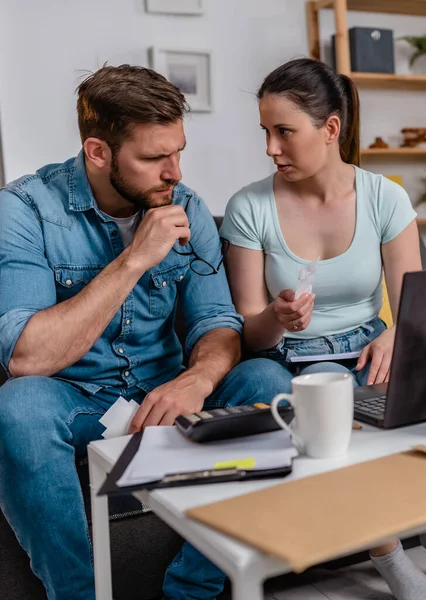
[[[403,532],[426,530],[426,446],[186,514],[288,561],[298,573]]]

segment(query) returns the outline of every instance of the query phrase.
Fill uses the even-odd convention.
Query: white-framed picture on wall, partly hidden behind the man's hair
[[[184,94],[193,112],[213,110],[211,52],[209,50],[149,49],[150,66]]]

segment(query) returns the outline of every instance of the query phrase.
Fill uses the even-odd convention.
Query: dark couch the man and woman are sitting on
[[[218,226],[221,218],[215,218]],[[426,249],[421,243],[423,268]],[[176,329],[182,338],[183,322],[178,311]],[[6,377],[0,368],[0,385]],[[78,465],[90,522],[88,472],[85,461]],[[151,600],[161,597],[164,572],[178,552],[180,537],[153,513],[142,513],[139,503],[118,499],[110,503],[112,577],[115,600]],[[411,542],[417,544],[418,541]],[[362,554],[353,561],[366,559]],[[341,566],[341,562],[336,566]],[[0,597],[4,600],[46,600],[44,588],[32,574],[26,553],[19,546],[0,511]],[[70,599],[71,600],[71,599]]]

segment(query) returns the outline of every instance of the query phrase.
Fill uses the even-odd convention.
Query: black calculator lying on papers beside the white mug
[[[294,416],[289,405],[279,406],[278,413],[286,423],[290,423]],[[270,406],[263,403],[180,415],[176,418],[175,425],[185,437],[194,442],[213,442],[280,429]]]

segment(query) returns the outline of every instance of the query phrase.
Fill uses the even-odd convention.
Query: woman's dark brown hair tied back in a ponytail
[[[359,96],[350,77],[338,75],[317,60],[302,58],[270,73],[259,88],[258,99],[265,94],[289,98],[317,127],[337,115],[341,122],[340,156],[344,162],[359,166]]]

